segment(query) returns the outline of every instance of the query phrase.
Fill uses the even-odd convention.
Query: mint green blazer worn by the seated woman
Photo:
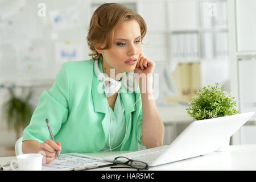
[[[46,125],[49,120],[55,142],[61,143],[61,154],[99,152],[104,148],[110,129],[108,100],[97,91],[100,80],[93,71],[94,60],[64,63],[52,88],[43,91],[30,124],[24,129],[24,140],[43,143],[51,139]],[[103,89],[103,84],[102,89]],[[121,89],[125,89],[121,86]],[[113,151],[139,150],[142,137],[142,100],[140,90],[122,92],[127,133],[122,145]],[[135,101],[139,101],[135,104]],[[135,106],[131,109],[131,106]],[[131,115],[127,120],[129,112]]]

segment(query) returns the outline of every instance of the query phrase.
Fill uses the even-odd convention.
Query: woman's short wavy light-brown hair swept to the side
[[[94,60],[101,57],[95,49],[95,44],[104,44],[103,49],[110,49],[113,43],[115,27],[124,20],[137,20],[141,28],[141,39],[144,38],[147,32],[146,22],[141,15],[129,9],[120,3],[105,3],[98,7],[90,19],[90,26],[87,35],[87,42],[90,50],[89,56]]]

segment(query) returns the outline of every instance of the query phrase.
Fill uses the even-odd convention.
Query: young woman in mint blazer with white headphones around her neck
[[[154,72],[155,63],[143,55],[145,34],[141,15],[126,6],[98,7],[87,36],[92,59],[63,64],[23,132],[23,153],[44,151],[48,164],[56,158],[55,150],[85,153],[161,146],[164,126],[155,101],[148,99],[152,77],[147,73]],[[146,92],[140,91],[141,80],[138,89],[122,81],[134,73],[145,75]],[[129,88],[134,90],[126,92]],[[56,143],[49,139],[46,118]]]

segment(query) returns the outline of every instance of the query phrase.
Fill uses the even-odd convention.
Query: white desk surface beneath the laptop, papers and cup
[[[123,152],[88,153],[86,155],[102,157],[122,154]],[[0,158],[0,162],[12,160],[15,157]],[[110,169],[110,167],[92,170],[135,170],[130,168]],[[256,144],[229,146],[225,152],[212,152],[192,159],[152,167],[149,170],[256,170]]]

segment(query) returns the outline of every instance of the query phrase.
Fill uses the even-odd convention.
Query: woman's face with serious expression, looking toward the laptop
[[[137,20],[125,20],[115,28],[112,47],[102,50],[102,65],[106,69],[114,68],[115,74],[132,72],[136,67],[141,51],[141,28],[139,23]],[[134,64],[125,63],[130,58],[137,60]]]

